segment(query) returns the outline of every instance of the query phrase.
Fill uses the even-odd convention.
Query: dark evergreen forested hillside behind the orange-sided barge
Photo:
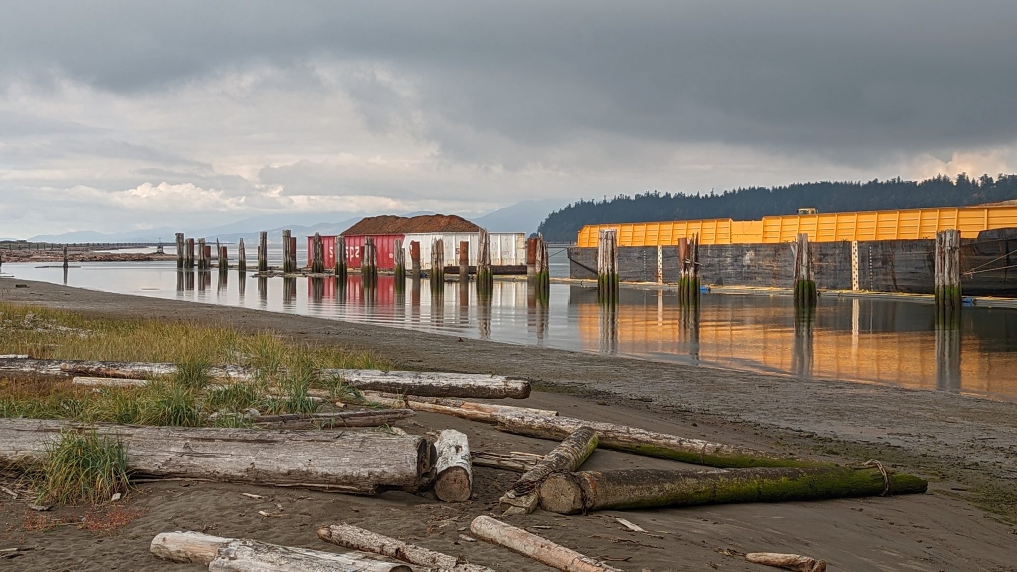
[[[925,206],[964,206],[1017,198],[1017,175],[978,179],[958,175],[924,181],[796,183],[785,187],[749,187],[690,195],[659,191],[618,195],[601,201],[581,200],[547,215],[540,232],[548,241],[574,242],[583,225],[686,218],[747,220],[768,214],[790,214],[799,207],[820,212],[885,210]]]

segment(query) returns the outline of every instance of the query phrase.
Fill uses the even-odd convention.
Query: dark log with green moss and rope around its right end
[[[729,470],[632,468],[554,473],[540,505],[559,514],[586,510],[810,501],[924,493],[928,483],[879,467],[759,467]]]

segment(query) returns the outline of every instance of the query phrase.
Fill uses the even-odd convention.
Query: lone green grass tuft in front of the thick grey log
[[[47,446],[46,459],[34,471],[33,481],[40,503],[106,502],[128,489],[123,445],[95,432],[64,433]]]

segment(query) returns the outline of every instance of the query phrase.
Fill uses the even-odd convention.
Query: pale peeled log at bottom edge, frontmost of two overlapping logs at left
[[[360,555],[333,554],[236,539],[220,547],[208,572],[411,572],[405,564],[390,564]]]

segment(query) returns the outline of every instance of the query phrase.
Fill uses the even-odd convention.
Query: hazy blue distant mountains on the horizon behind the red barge
[[[492,233],[523,232],[527,235],[536,232],[537,226],[547,216],[547,213],[567,204],[563,199],[542,199],[523,201],[512,206],[499,208],[481,216],[464,216]],[[403,216],[418,214],[433,214],[429,211],[408,212]],[[455,213],[450,213],[455,214]],[[171,229],[162,227],[122,233],[99,233],[95,231],[76,231],[61,235],[38,235],[28,239],[32,242],[86,243],[86,242],[155,242],[162,239],[164,243],[172,243],[175,233],[183,232],[188,237],[204,237],[208,240],[219,239],[225,243],[235,243],[240,238],[245,242],[257,240],[258,232],[268,231],[268,240],[276,242],[284,229],[293,232],[293,236],[309,236],[314,233],[322,235],[338,235],[349,229],[363,214],[354,212],[279,212],[251,216],[236,223],[205,229]],[[15,240],[15,239],[11,239]]]

